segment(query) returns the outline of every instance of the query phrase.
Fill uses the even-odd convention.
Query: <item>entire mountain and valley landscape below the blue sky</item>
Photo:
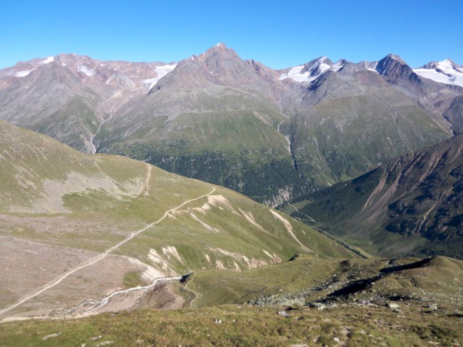
[[[0,70],[0,344],[460,346],[462,74]]]

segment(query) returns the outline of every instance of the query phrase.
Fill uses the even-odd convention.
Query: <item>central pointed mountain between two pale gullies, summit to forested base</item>
[[[270,69],[224,46],[178,63],[95,138],[99,152],[144,160],[278,204],[306,190],[294,169]]]

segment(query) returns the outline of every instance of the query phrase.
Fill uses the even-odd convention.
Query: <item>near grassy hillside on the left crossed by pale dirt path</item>
[[[127,281],[252,269],[299,252],[353,257],[231,190],[126,157],[85,155],[4,121],[0,163],[0,312],[37,292],[9,314],[62,310]]]

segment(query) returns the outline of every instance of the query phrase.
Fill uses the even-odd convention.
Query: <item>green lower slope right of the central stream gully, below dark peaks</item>
[[[291,128],[285,128],[294,133],[298,167],[317,185],[357,177],[392,157],[448,137],[403,95],[371,93],[323,100],[301,110]]]

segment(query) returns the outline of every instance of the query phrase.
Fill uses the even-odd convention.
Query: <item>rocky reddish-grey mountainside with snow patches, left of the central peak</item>
[[[0,119],[94,152],[100,125],[147,93],[175,64],[98,61],[60,54],[0,71]]]

